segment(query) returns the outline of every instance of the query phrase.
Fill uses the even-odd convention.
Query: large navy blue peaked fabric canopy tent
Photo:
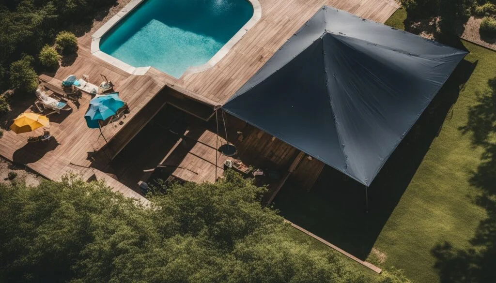
[[[367,192],[466,55],[323,6],[222,109]]]

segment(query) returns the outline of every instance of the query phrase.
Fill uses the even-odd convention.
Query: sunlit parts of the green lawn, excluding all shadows
[[[403,29],[405,17],[399,10],[386,24]],[[487,91],[488,80],[496,74],[496,53],[463,45],[470,51],[466,60],[478,61],[477,66],[374,244],[387,255],[386,266],[404,269],[416,282],[438,282],[434,246],[447,241],[459,249],[470,248],[479,222],[487,217],[474,203],[479,189],[470,184],[483,149],[473,147],[471,133],[463,134],[460,128],[478,104],[476,93]]]

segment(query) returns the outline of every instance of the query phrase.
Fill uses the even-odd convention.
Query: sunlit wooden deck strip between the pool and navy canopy
[[[224,104],[320,8],[329,5],[383,23],[394,0],[259,0],[262,17],[213,68],[174,82]]]

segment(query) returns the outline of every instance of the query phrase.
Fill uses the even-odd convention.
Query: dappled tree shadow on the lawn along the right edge
[[[443,242],[432,249],[441,283],[496,282],[496,78],[488,85],[490,90],[477,94],[479,104],[469,110],[468,123],[460,128],[472,134],[474,147],[485,149],[469,181],[479,190],[475,203],[488,217],[479,223],[470,248],[455,249]]]

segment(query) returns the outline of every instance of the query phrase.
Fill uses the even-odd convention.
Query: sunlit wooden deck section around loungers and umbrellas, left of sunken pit
[[[115,90],[120,92],[120,97],[129,105],[130,113],[125,119],[106,125],[102,131],[105,138],[109,141],[140,112],[140,110],[155,97],[162,89],[165,82],[157,81],[151,76],[134,76],[130,75],[110,64],[91,56],[84,48],[80,48],[75,61],[69,66],[62,66],[55,74],[55,79],[49,80],[47,76],[41,78],[47,81],[47,84],[53,88],[58,87],[59,81],[63,80],[70,74],[81,77],[83,74],[89,75],[89,82],[99,85],[103,78],[100,74],[105,75],[115,84]],[[62,90],[62,88],[61,88]],[[36,99],[33,93],[32,101]],[[89,167],[94,162],[90,158],[92,153],[100,150],[105,146],[105,141],[101,137],[98,129],[90,129],[86,126],[84,113],[88,108],[90,97],[83,95],[75,105],[72,105],[72,112],[68,114],[50,115],[50,132],[54,139],[48,144],[28,144],[28,136],[40,135],[43,128],[37,129],[32,133],[16,135],[12,131],[4,131],[0,139],[0,155],[18,164],[24,164],[41,175],[52,179],[59,180],[69,169],[77,171],[70,164],[79,166],[82,171],[84,167]],[[33,109],[25,104],[13,105],[13,110],[9,115],[2,118],[2,125],[8,127],[9,121],[18,114],[31,111]],[[102,175],[100,175],[102,178]],[[109,179],[109,181],[111,181]],[[135,192],[122,184],[112,183],[112,185],[124,195],[133,195]]]

